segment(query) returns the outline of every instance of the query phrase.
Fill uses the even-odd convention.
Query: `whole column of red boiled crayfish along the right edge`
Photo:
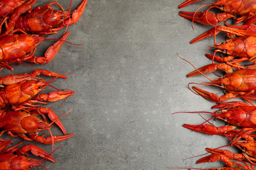
[[[179,5],[186,7],[192,3],[204,0],[187,0]],[[201,8],[206,8],[200,11]],[[212,9],[215,9],[213,12]],[[223,161],[224,167],[213,169],[223,170],[255,170],[256,165],[256,1],[255,0],[217,0],[209,5],[203,5],[196,12],[180,11],[179,15],[188,20],[204,25],[212,25],[212,28],[202,33],[192,41],[193,44],[207,37],[213,37],[213,54],[205,54],[211,61],[208,65],[188,73],[187,77],[203,75],[209,82],[201,84],[191,82],[188,88],[209,101],[217,104],[211,112],[193,112],[210,114],[212,118],[199,125],[183,124],[182,126],[192,131],[198,131],[207,135],[221,135],[228,140],[228,145],[236,147],[240,152],[233,153],[230,150],[219,148],[205,148],[209,156],[205,156],[196,163]],[[229,24],[228,24],[229,23]],[[231,23],[231,24],[230,24]],[[240,24],[239,24],[240,23]],[[237,25],[239,24],[239,25]],[[223,32],[225,41],[216,42],[216,35]],[[180,57],[181,58],[181,57]],[[183,58],[182,58],[183,59]],[[186,59],[184,59],[186,61]],[[223,71],[220,76],[216,71]],[[211,79],[205,74],[215,73],[217,78]],[[223,89],[223,95],[207,92],[192,86],[211,85]],[[229,101],[229,100],[232,101]],[[236,101],[239,99],[239,101]],[[177,112],[176,112],[177,113]],[[190,112],[192,113],[192,112]],[[202,115],[201,115],[202,116]],[[226,126],[216,127],[210,120],[219,119],[226,122]],[[171,167],[185,169],[184,167]],[[187,168],[199,169],[199,168]]]

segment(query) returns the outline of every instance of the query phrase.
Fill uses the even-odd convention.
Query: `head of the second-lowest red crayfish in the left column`
[[[22,128],[25,129],[28,133],[37,132],[38,129],[45,129],[51,127],[50,124],[35,116],[26,116],[22,118],[20,124]]]

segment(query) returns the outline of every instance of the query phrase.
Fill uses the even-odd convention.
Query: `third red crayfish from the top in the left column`
[[[47,71],[46,75],[57,76],[57,77],[60,76],[56,73],[53,73],[53,74],[52,73],[53,72]],[[60,77],[66,78],[66,76],[60,76]],[[28,76],[26,74],[24,79],[25,80],[22,80],[22,81],[20,81],[19,79],[18,80],[19,82],[14,84],[9,84],[4,88],[0,89],[0,108],[5,108],[13,105],[19,105],[20,107],[22,107],[24,105],[31,105],[32,103],[40,103],[40,101],[58,101],[60,99],[64,99],[74,94],[74,91],[69,91],[69,92],[53,91],[53,92],[50,92],[49,94],[37,95],[39,92],[42,92],[44,88],[49,86],[49,82],[51,82],[51,80],[48,82],[46,82],[45,80],[35,80],[34,76],[32,76],[31,78],[31,76]],[[12,78],[11,78],[11,81],[12,81]]]

